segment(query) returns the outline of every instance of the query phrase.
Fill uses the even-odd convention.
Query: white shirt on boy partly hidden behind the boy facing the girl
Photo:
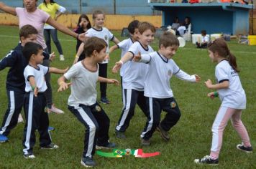
[[[142,44],[140,44],[140,42],[134,42],[134,44],[129,47],[129,52],[131,52],[132,54],[138,54],[139,52],[141,54],[148,54],[153,51],[154,50],[150,46],[145,49]],[[133,62],[132,60],[126,62],[125,64],[127,64],[127,67],[124,70],[123,76],[124,89],[143,91],[145,76],[148,67],[147,64]]]

